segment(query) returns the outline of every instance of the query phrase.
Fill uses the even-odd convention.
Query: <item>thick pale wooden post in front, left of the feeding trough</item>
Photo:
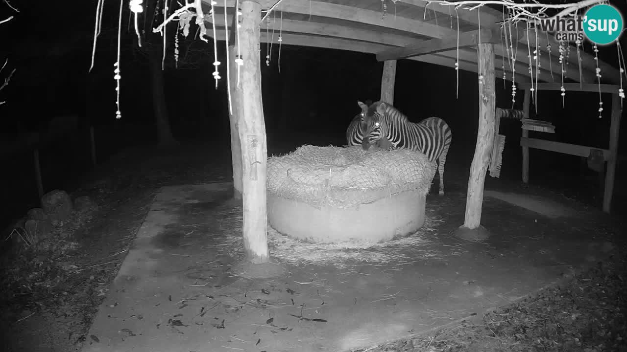
[[[246,259],[253,264],[269,261],[266,234],[266,130],[261,103],[260,22],[261,5],[241,1],[240,68],[238,87],[238,135],[243,168],[243,236]],[[235,84],[231,82],[231,84]]]

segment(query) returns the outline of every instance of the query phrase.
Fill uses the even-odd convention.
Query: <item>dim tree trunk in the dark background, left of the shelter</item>
[[[163,70],[161,70],[161,52],[149,49],[148,61],[150,78],[152,79],[152,108],[155,114],[155,123],[159,133],[160,145],[172,145],[176,140],[172,136],[170,121],[167,116],[166,91],[164,89]]]

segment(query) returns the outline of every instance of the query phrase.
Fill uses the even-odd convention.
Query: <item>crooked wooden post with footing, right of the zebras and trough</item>
[[[495,73],[494,44],[479,44],[477,47],[478,74],[483,76],[479,81],[479,129],[475,156],[470,165],[468,194],[466,194],[466,214],[464,224],[458,229],[456,236],[463,239],[486,239],[488,231],[481,224],[483,204],[483,184],[492,155],[494,144],[495,106]]]

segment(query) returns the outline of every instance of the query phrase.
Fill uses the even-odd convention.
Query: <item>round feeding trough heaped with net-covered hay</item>
[[[304,145],[268,160],[268,220],[308,242],[384,242],[424,224],[435,162],[413,150]]]

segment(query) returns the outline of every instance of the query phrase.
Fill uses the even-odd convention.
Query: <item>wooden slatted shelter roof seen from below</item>
[[[209,7],[209,0],[203,0]],[[267,11],[276,0],[258,0],[262,11]],[[216,37],[225,38],[223,1],[218,0],[216,11]],[[235,0],[227,0],[228,24],[234,13]],[[385,4],[385,9],[383,7]],[[445,49],[435,53],[411,56],[412,48],[435,48],[438,43],[456,42],[466,38],[472,43],[472,36],[481,33],[495,33],[495,69],[497,77],[512,80],[512,59],[508,54],[506,34],[500,29],[503,21],[502,11],[488,6],[479,10],[455,9],[453,6],[429,3],[425,0],[283,0],[263,23],[261,23],[261,42],[278,44],[279,33],[282,44],[313,46],[319,48],[343,49],[361,53],[377,54],[377,60],[408,58],[435,65],[455,68],[459,62],[460,70],[477,72],[476,45]],[[218,16],[221,14],[221,16]],[[480,25],[479,25],[480,24]],[[209,29],[209,28],[208,28]],[[459,29],[459,32],[458,32]],[[466,34],[464,34],[466,33]],[[516,34],[518,36],[516,38]],[[559,60],[559,42],[552,34],[535,29],[527,31],[524,23],[519,23],[512,30],[515,54],[515,81],[529,82],[529,54],[540,51],[540,70],[533,69],[533,81],[561,82],[562,66]],[[213,31],[208,30],[213,36]],[[508,37],[509,34],[507,34]],[[500,40],[498,39],[500,37]],[[485,38],[485,37],[484,37]],[[441,39],[433,40],[433,39]],[[429,42],[429,40],[431,42]],[[483,41],[483,40],[482,40]],[[537,43],[537,47],[536,47]],[[549,49],[550,44],[550,49]],[[435,45],[435,46],[434,46]],[[444,46],[446,48],[446,45]],[[450,47],[450,45],[448,46]],[[580,51],[581,79],[574,44],[567,50],[569,57],[564,60],[564,81],[596,83],[596,62],[594,54]],[[619,70],[599,60],[602,83],[618,83]]]

